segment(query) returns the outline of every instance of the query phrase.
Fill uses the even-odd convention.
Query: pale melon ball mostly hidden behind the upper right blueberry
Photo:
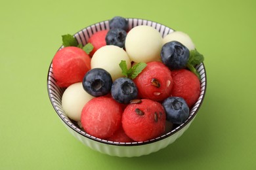
[[[173,31],[172,33],[169,33],[168,35],[163,37],[163,44],[170,41],[181,42],[181,44],[186,46],[188,50],[194,50],[196,48],[192,39],[190,39],[190,37],[182,31]]]

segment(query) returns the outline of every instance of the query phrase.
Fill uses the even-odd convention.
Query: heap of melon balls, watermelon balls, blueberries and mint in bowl
[[[143,142],[183,124],[200,95],[203,62],[182,31],[165,37],[154,27],[129,29],[116,16],[84,46],[62,35],[53,75],[65,89],[62,108],[83,131],[107,141]]]

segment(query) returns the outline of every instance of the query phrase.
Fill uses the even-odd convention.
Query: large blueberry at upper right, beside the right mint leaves
[[[161,48],[161,60],[169,69],[184,69],[188,58],[189,50],[181,42],[167,42]]]

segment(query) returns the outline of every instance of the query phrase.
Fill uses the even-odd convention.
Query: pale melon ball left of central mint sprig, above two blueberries
[[[123,48],[114,45],[102,46],[91,59],[91,69],[101,68],[108,71],[114,81],[123,76],[119,67],[121,60],[125,60],[127,69],[131,68],[131,59]]]

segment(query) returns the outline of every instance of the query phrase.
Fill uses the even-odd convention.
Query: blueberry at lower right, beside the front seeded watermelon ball
[[[166,120],[173,124],[182,124],[188,118],[189,108],[182,97],[168,97],[162,103]]]

